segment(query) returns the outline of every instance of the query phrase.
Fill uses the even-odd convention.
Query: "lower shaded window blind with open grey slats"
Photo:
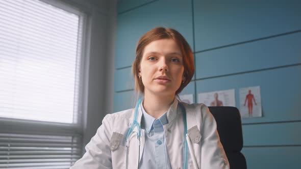
[[[0,168],[69,168],[81,153],[80,135],[0,133]]]

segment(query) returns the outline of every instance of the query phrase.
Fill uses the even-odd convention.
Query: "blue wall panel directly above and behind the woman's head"
[[[157,26],[172,27],[193,44],[191,1],[156,1],[119,14],[117,23],[115,68],[131,66],[139,38]]]

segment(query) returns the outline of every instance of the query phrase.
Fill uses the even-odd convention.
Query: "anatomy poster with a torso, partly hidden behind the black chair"
[[[204,103],[207,106],[234,106],[235,90],[214,91],[198,94],[198,103]]]

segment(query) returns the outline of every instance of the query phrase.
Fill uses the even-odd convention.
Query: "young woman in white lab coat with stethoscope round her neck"
[[[230,168],[208,107],[177,99],[194,73],[184,37],[164,27],[150,30],[132,68],[142,95],[136,108],[107,115],[71,168]]]

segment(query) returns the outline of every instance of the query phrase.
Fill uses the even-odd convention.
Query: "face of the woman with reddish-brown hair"
[[[174,95],[183,80],[183,56],[173,39],[153,41],[145,46],[139,75],[144,94]]]

